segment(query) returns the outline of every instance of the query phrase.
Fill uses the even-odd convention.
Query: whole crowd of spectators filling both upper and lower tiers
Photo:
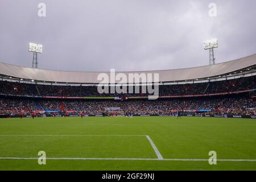
[[[217,82],[204,82],[197,84],[175,84],[159,86],[159,96],[183,96],[193,94],[225,93],[256,88],[256,76],[242,77],[235,80]],[[16,96],[59,96],[59,97],[84,97],[84,96],[147,96],[139,94],[100,94],[97,86],[57,86],[21,84],[19,82],[0,81],[0,94]],[[109,88],[109,90],[111,90]],[[135,88],[134,88],[135,90]],[[255,115],[255,92],[250,94],[230,97],[201,97],[180,98],[170,100],[46,100],[26,98],[0,98],[0,115],[15,114],[20,111],[31,113],[34,110],[48,111],[85,111],[88,114],[102,114],[106,108],[118,108],[119,114],[172,114],[175,110],[211,110],[207,114],[245,114]],[[111,111],[111,110],[108,110]]]

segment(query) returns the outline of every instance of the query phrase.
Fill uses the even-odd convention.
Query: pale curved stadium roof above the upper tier
[[[163,71],[116,72],[115,74],[125,73],[125,75],[127,75],[128,77],[129,73],[159,73],[159,82],[171,82],[196,80],[208,77],[217,77],[220,75],[227,75],[240,69],[253,67],[254,65],[256,65],[256,54],[233,61],[227,61],[225,63],[207,65],[203,67]],[[100,83],[100,80],[97,80],[97,77],[100,73],[106,73],[110,76],[110,72],[53,71],[0,63],[0,75],[13,78],[23,78],[24,80],[63,83],[68,82],[74,84],[98,84]]]

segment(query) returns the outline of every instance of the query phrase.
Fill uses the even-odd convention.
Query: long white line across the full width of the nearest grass
[[[38,160],[39,158],[10,158],[1,157],[0,160]],[[136,159],[136,158],[46,158],[46,160],[160,160],[160,161],[209,161],[209,159]],[[256,159],[217,159],[222,162],[256,162]]]

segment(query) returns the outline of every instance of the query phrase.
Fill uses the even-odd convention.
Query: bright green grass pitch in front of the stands
[[[148,139],[134,135],[150,136],[164,159],[209,159],[209,151],[216,151],[217,159],[256,159],[254,119],[195,117],[0,119],[0,158],[38,158],[39,151],[46,151],[47,158],[157,159]],[[224,161],[212,166],[208,161],[163,160],[47,160],[46,163],[39,165],[37,159],[0,159],[0,170],[256,169],[256,162]]]

